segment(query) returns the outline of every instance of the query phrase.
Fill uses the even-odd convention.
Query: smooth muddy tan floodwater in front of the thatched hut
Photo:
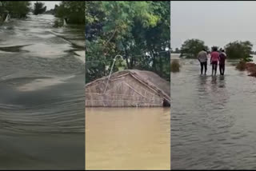
[[[170,170],[170,108],[86,108],[86,169]]]

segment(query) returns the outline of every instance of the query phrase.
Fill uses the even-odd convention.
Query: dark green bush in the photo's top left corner
[[[9,13],[12,18],[25,18],[30,12],[29,6],[30,1],[1,1],[0,14]]]

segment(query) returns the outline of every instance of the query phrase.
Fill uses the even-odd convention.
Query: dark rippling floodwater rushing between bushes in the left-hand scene
[[[0,26],[0,169],[84,169],[84,28]]]

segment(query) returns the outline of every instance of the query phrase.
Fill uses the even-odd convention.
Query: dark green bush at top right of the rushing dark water
[[[68,24],[85,23],[85,2],[84,1],[62,1],[55,6],[55,16],[66,18]]]

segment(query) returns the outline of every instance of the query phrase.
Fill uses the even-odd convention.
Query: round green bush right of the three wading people
[[[243,59],[245,62],[252,61],[252,48],[253,45],[251,42],[230,42],[225,46],[226,55],[231,59]]]

